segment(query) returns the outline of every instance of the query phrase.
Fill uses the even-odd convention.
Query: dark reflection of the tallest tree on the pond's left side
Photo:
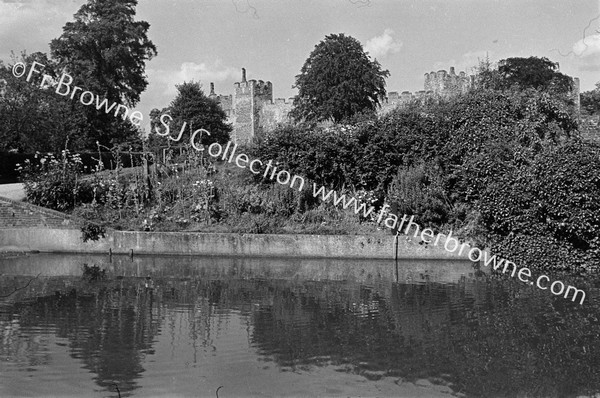
[[[71,356],[96,374],[98,386],[128,396],[137,388],[143,357],[152,354],[163,317],[154,293],[140,286],[102,289],[93,295],[55,294],[15,306],[22,328],[44,324],[69,340]]]

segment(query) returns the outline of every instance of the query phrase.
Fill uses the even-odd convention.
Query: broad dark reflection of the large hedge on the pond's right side
[[[598,304],[493,284],[393,284],[389,295],[276,285],[273,304],[254,314],[253,341],[282,366],[351,365],[369,378],[428,378],[473,396],[600,391]]]

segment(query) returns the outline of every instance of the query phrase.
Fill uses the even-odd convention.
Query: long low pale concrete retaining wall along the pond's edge
[[[402,259],[466,259],[438,246],[400,236]],[[308,258],[394,258],[394,236],[253,235],[185,232],[108,231],[106,238],[84,243],[79,229],[0,229],[0,251],[72,252]]]

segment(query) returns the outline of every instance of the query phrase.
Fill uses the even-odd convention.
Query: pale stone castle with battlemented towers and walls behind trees
[[[475,76],[465,72],[456,74],[454,67],[450,73],[445,70],[425,73],[424,90],[411,93],[388,92],[382,101],[380,113],[430,97],[449,97],[465,93],[475,83]],[[217,101],[227,114],[227,121],[233,126],[231,139],[235,143],[247,143],[261,131],[267,131],[278,124],[290,122],[288,113],[292,110],[294,98],[273,99],[273,84],[270,81],[246,80],[246,69],[242,68],[242,81],[234,83],[233,95],[215,94],[214,84],[210,84],[209,98]],[[573,99],[579,110],[579,79],[573,78]]]

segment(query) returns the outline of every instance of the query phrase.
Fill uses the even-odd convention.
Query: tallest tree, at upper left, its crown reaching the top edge
[[[145,62],[157,54],[147,37],[150,24],[134,21],[137,0],[88,0],[50,43],[58,66],[73,77],[72,86],[85,87],[108,102],[135,106],[148,81]],[[86,146],[131,139],[137,133],[129,121],[85,107]]]

